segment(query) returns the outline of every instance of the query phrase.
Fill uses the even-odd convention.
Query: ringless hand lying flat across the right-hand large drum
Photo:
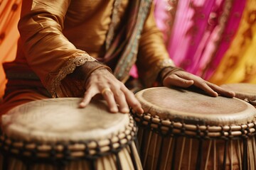
[[[216,97],[218,94],[225,97],[233,98],[235,93],[233,91],[227,91],[220,86],[212,84],[208,81],[203,80],[201,77],[198,77],[194,74],[177,70],[176,72],[171,72],[168,76],[163,79],[163,85],[166,87],[169,86],[180,86],[180,87],[189,87],[196,86],[210,96]]]

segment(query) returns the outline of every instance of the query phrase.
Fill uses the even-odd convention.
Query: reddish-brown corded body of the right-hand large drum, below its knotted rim
[[[247,140],[206,140],[163,137],[138,132],[143,169],[255,169],[255,137]],[[245,143],[246,142],[246,145]],[[244,148],[247,147],[245,162]]]

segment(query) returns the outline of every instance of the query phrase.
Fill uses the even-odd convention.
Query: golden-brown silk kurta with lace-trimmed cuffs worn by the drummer
[[[117,21],[127,19],[124,13],[128,5],[129,1],[122,1]],[[80,96],[85,89],[72,74],[85,62],[104,57],[113,6],[114,0],[23,1],[18,23],[22,50],[19,48],[14,63],[35,72],[52,96]],[[137,57],[139,75],[149,86],[162,68],[174,66],[156,28],[153,11],[152,6],[140,36]]]

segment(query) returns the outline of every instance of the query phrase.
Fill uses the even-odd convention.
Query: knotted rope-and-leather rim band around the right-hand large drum
[[[134,120],[142,128],[150,129],[163,136],[188,136],[196,138],[243,138],[255,135],[256,119],[242,125],[192,125],[188,123],[175,122],[169,119],[161,119],[158,115],[144,113],[139,115],[132,111]]]

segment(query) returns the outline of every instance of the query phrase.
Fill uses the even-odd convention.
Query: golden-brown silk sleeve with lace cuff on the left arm
[[[85,62],[95,62],[62,33],[69,4],[70,0],[23,1],[18,23],[28,65],[53,97],[68,96],[62,80]]]

